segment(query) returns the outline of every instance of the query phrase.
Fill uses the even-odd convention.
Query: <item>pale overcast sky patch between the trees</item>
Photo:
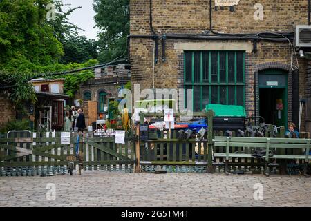
[[[93,19],[95,12],[93,10],[93,0],[62,0],[64,4],[70,4],[70,6],[65,6],[63,10],[75,8],[77,6],[82,6],[75,10],[69,17],[69,21],[74,23],[79,28],[84,29],[85,31],[79,30],[80,35],[85,35],[89,39],[98,39],[97,28],[94,28],[95,21]]]

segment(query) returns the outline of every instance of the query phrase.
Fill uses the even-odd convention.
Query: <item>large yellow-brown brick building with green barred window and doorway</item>
[[[132,86],[193,89],[194,111],[236,104],[267,123],[298,125],[299,98],[311,102],[311,63],[294,32],[310,23],[308,0],[228,2],[131,0]],[[301,131],[311,131],[305,107]]]

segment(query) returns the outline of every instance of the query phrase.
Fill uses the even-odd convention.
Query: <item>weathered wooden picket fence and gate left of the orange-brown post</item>
[[[71,133],[70,144],[62,145],[60,132],[8,133],[0,139],[0,176],[64,174],[69,162],[81,164],[84,170],[133,171],[135,140],[131,137],[126,137],[125,144],[115,144],[113,137],[94,137],[93,133],[77,137]]]

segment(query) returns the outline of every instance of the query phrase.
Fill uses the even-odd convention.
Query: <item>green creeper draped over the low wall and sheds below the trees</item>
[[[43,76],[46,79],[65,78],[64,93],[73,97],[75,92],[79,90],[79,85],[92,79],[94,73],[92,70],[84,70],[79,74],[71,75],[50,75],[50,73],[58,73],[65,70],[75,70],[89,66],[95,66],[97,60],[90,60],[83,64],[54,64],[50,66],[37,66],[30,64],[29,61],[23,60],[19,62],[17,69],[22,72],[14,71],[16,67],[9,67],[6,70],[0,70],[0,84],[3,86],[13,86],[6,89],[5,93],[11,102],[17,107],[21,108],[23,101],[30,101],[35,103],[37,98],[32,84],[28,83],[30,77],[38,75],[38,73],[45,73]]]

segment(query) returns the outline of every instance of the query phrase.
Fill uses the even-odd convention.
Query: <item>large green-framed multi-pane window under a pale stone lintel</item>
[[[185,51],[185,106],[193,90],[194,111],[206,104],[245,106],[245,51]]]

